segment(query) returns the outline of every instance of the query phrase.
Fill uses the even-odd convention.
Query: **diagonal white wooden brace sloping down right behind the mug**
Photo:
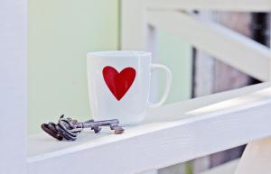
[[[191,14],[149,11],[147,15],[148,23],[154,27],[173,33],[254,78],[269,79],[271,51],[256,41]]]

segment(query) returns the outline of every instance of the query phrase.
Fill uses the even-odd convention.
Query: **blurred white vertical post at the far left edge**
[[[0,173],[26,174],[26,0],[0,1]]]

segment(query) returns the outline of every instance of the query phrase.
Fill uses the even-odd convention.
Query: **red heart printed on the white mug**
[[[135,80],[135,69],[128,67],[118,73],[113,67],[107,66],[103,69],[103,76],[107,87],[119,101],[132,86]]]

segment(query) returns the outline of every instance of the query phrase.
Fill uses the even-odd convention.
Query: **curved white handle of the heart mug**
[[[154,108],[154,107],[158,107],[164,104],[169,92],[170,92],[170,87],[172,84],[172,72],[170,69],[168,69],[167,67],[165,67],[164,65],[160,65],[160,64],[152,64],[151,65],[151,70],[152,72],[156,69],[161,69],[164,70],[165,75],[166,75],[166,83],[165,83],[165,87],[164,87],[164,94],[161,97],[161,99],[157,102],[157,103],[150,103],[149,107]]]

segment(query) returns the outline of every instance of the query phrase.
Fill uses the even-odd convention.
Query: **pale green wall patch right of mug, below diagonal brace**
[[[166,103],[178,102],[192,94],[192,48],[178,38],[159,30],[158,57],[160,63],[172,71],[173,84]],[[160,93],[164,90],[164,78],[160,80]]]

